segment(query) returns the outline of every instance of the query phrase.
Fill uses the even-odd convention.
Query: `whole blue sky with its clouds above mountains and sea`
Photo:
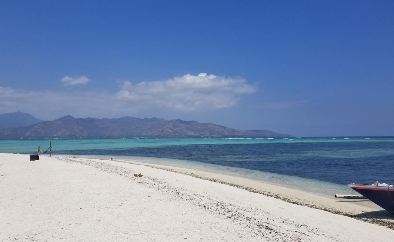
[[[392,1],[2,1],[0,113],[394,135],[393,12]]]

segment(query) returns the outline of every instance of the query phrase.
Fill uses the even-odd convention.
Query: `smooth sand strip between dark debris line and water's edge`
[[[100,160],[103,160],[105,162],[108,159]],[[369,200],[336,199],[333,196],[334,193],[331,195],[316,193],[307,189],[302,190],[298,187],[291,187],[288,185],[275,184],[273,182],[266,181],[255,181],[249,178],[222,174],[220,172],[216,173],[214,170],[212,170],[212,172],[206,172],[190,168],[180,168],[160,164],[149,164],[132,160],[115,159],[115,161],[144,165],[147,167],[190,175],[200,179],[214,181],[216,183],[223,183],[230,186],[242,188],[250,192],[256,192],[266,196],[274,197],[282,201],[287,201],[298,205],[306,205],[308,207],[321,209],[344,216],[354,217],[360,220],[384,225],[386,227],[394,229],[393,215]],[[350,188],[349,193],[351,193]]]

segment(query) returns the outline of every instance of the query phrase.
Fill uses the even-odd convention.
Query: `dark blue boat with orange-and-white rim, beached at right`
[[[348,186],[394,215],[394,185],[376,181],[372,185],[351,183]]]

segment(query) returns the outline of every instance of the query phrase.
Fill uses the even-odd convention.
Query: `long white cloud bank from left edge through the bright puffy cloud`
[[[187,74],[165,81],[143,81],[135,85],[125,81],[119,89],[110,93],[0,87],[0,113],[22,111],[50,120],[64,115],[119,117],[165,109],[204,111],[231,107],[242,94],[255,92],[255,87],[247,84],[245,79],[205,73],[198,76]]]

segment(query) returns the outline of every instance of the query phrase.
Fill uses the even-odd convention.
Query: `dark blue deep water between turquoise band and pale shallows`
[[[187,144],[109,150],[72,150],[72,155],[124,155],[199,161],[337,184],[393,183],[394,140]]]

